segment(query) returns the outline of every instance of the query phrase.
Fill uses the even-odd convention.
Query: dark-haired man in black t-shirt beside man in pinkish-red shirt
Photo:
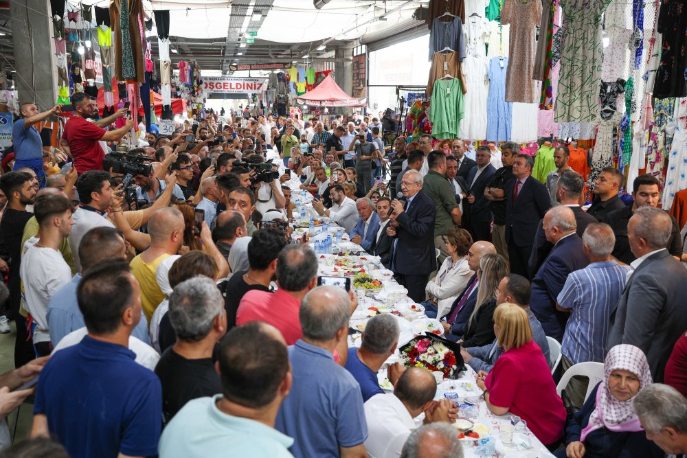
[[[227,330],[236,325],[236,310],[243,295],[250,290],[271,291],[269,283],[276,277],[277,257],[286,247],[284,232],[279,229],[260,229],[248,244],[248,271],[236,272],[229,278],[225,295]]]

